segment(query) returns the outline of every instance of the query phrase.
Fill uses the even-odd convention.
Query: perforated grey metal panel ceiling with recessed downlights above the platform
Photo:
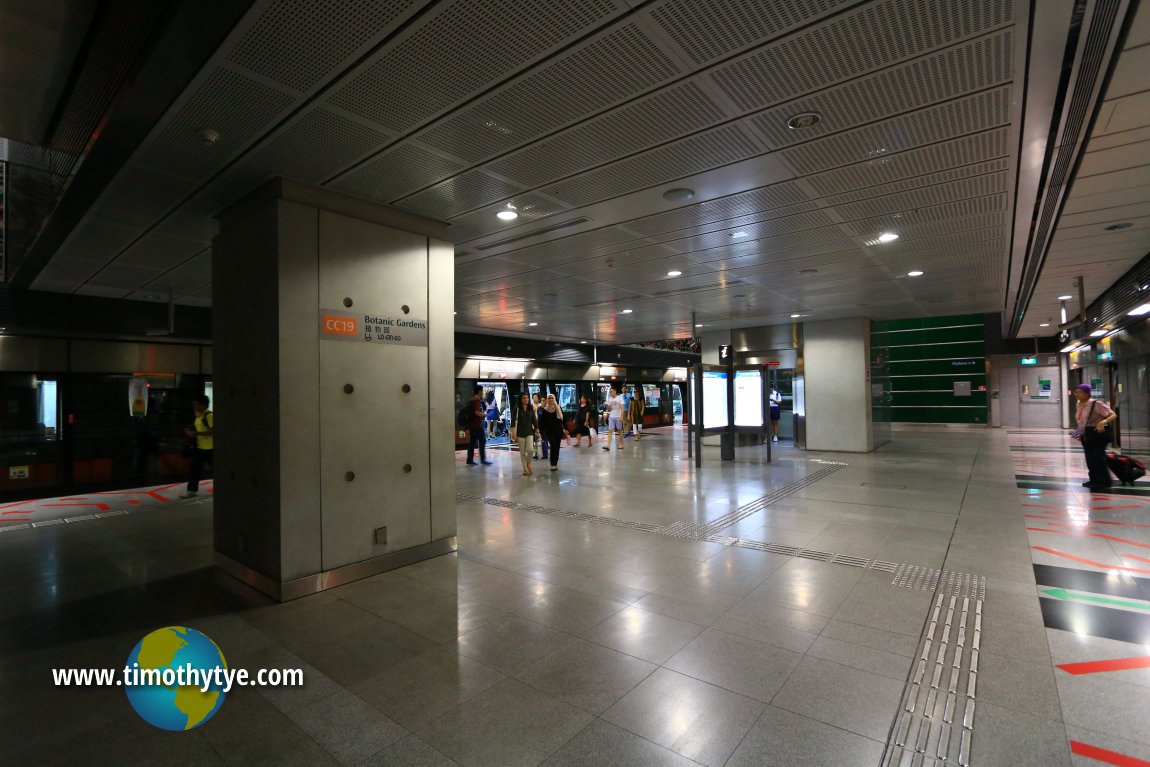
[[[692,310],[710,327],[798,308],[1000,310],[1029,10],[260,0],[41,286],[171,286],[202,302],[212,215],[282,175],[450,223],[468,329],[534,332],[528,319],[562,309],[565,329],[546,332],[635,340],[691,332]],[[1096,131],[1109,144],[1083,163],[1083,201],[1067,206],[1081,229],[1055,239],[1058,268],[1079,246],[1141,241],[1090,231],[1125,189],[1150,204],[1150,175],[1125,161],[1150,133],[1114,138],[1140,129],[1140,93],[1119,79],[1113,129]],[[800,113],[820,120],[789,128]],[[665,199],[673,187],[689,191]],[[1127,202],[1141,221],[1140,200]],[[508,204],[519,217],[506,223],[494,214]],[[887,230],[899,240],[871,244]],[[927,275],[908,279],[910,268]],[[620,301],[634,314],[619,315]]]

